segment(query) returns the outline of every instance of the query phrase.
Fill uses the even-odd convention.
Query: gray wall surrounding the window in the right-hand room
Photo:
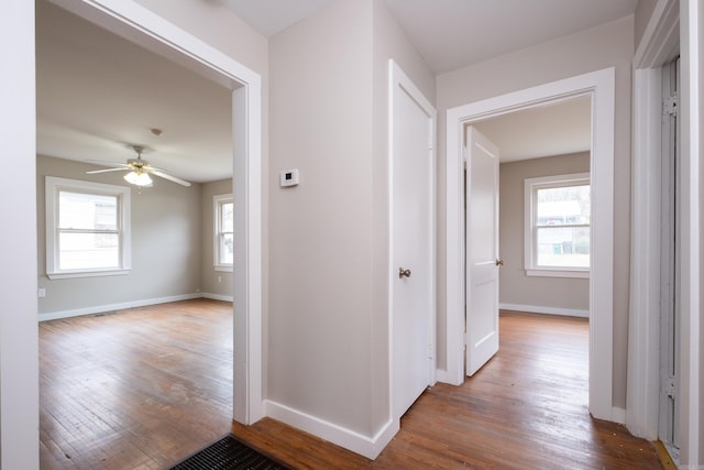
[[[588,173],[588,152],[504,163],[499,170],[499,270],[502,304],[588,310],[590,281],[586,278],[526,275],[524,181],[540,176]]]

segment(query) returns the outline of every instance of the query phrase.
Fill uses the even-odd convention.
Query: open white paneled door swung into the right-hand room
[[[498,351],[498,149],[466,131],[466,374]]]

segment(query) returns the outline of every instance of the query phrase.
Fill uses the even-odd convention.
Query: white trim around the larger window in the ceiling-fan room
[[[132,265],[130,242],[130,188],[125,186],[107,185],[102,183],[82,182],[78,179],[47,176],[45,181],[46,200],[46,276],[50,280],[69,277],[95,277],[129,274]],[[81,269],[61,270],[58,266],[58,193],[59,190],[76,190],[80,193],[117,196],[120,218],[120,266],[119,269]]]

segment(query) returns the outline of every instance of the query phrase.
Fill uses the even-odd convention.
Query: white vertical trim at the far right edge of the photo
[[[702,174],[701,159],[704,142],[702,112],[704,87],[702,76],[702,41],[704,40],[703,9],[700,0],[682,0],[680,20],[681,91],[680,100],[680,270],[678,300],[680,300],[680,463],[684,468],[701,468],[704,462],[702,416]]]

